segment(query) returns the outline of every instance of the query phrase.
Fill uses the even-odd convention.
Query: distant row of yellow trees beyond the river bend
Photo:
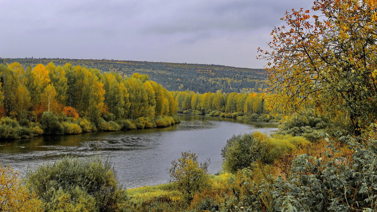
[[[178,113],[279,122],[282,114],[271,113],[265,93],[173,92]]]

